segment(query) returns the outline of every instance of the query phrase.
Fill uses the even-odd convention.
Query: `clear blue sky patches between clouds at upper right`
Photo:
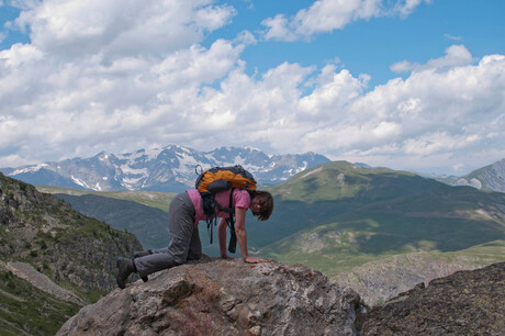
[[[262,31],[261,21],[283,13],[294,15],[300,9],[310,8],[314,1],[232,1],[237,15],[233,23],[213,32],[212,38],[233,38],[237,31]],[[360,20],[344,29],[311,36],[310,41],[291,43],[266,41],[247,48],[242,58],[252,74],[263,72],[283,61],[303,66],[323,66],[336,57],[352,74],[369,74],[370,86],[385,83],[397,77],[390,66],[400,60],[425,63],[437,58],[452,44],[463,44],[474,57],[503,54],[505,33],[503,13],[505,2],[498,0],[442,0],[422,2],[408,16]]]

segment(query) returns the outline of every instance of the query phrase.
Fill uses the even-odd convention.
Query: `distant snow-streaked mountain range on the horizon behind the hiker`
[[[0,170],[10,177],[40,186],[96,191],[179,192],[194,188],[198,165],[203,169],[242,165],[259,183],[278,183],[296,172],[327,161],[328,158],[314,153],[268,156],[251,147],[222,147],[212,152],[199,152],[170,145],[119,155],[102,152],[90,158]]]

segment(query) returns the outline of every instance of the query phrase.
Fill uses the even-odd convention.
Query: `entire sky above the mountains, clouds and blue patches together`
[[[500,0],[0,0],[0,167],[169,144],[505,157]]]

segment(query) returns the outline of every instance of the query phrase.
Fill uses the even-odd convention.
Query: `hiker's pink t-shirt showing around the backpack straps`
[[[188,194],[189,194],[189,197],[191,199],[191,202],[193,203],[193,206],[194,206],[194,212],[195,212],[194,225],[198,225],[198,223],[200,221],[205,221],[206,220],[206,216],[203,213],[202,197],[200,195],[200,191],[198,191],[197,189],[187,190],[187,192],[188,192]],[[220,203],[220,205],[223,209],[229,206],[229,193],[231,192],[232,192],[232,189],[226,190],[226,191],[222,191],[222,192],[217,192],[215,194],[216,202]],[[233,204],[233,208],[238,206],[238,208],[249,209],[249,206],[250,206],[249,192],[247,190],[234,189],[233,190],[232,204]],[[229,216],[229,214],[226,213],[226,212],[220,212],[217,209],[216,209],[216,211],[217,211],[217,216],[218,217],[227,219]]]

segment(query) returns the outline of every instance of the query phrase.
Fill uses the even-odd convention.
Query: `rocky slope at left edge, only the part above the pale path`
[[[142,249],[135,236],[83,216],[60,199],[0,173],[0,260],[24,261],[53,281],[115,288],[115,259]]]

